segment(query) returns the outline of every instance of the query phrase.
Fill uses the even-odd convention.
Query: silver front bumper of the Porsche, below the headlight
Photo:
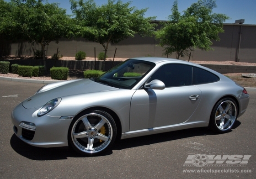
[[[37,117],[37,109],[26,109],[19,104],[11,113],[13,129],[22,141],[36,147],[68,146],[68,130],[72,121],[60,120],[61,116],[44,115]],[[36,129],[21,126],[21,122],[33,123]]]

